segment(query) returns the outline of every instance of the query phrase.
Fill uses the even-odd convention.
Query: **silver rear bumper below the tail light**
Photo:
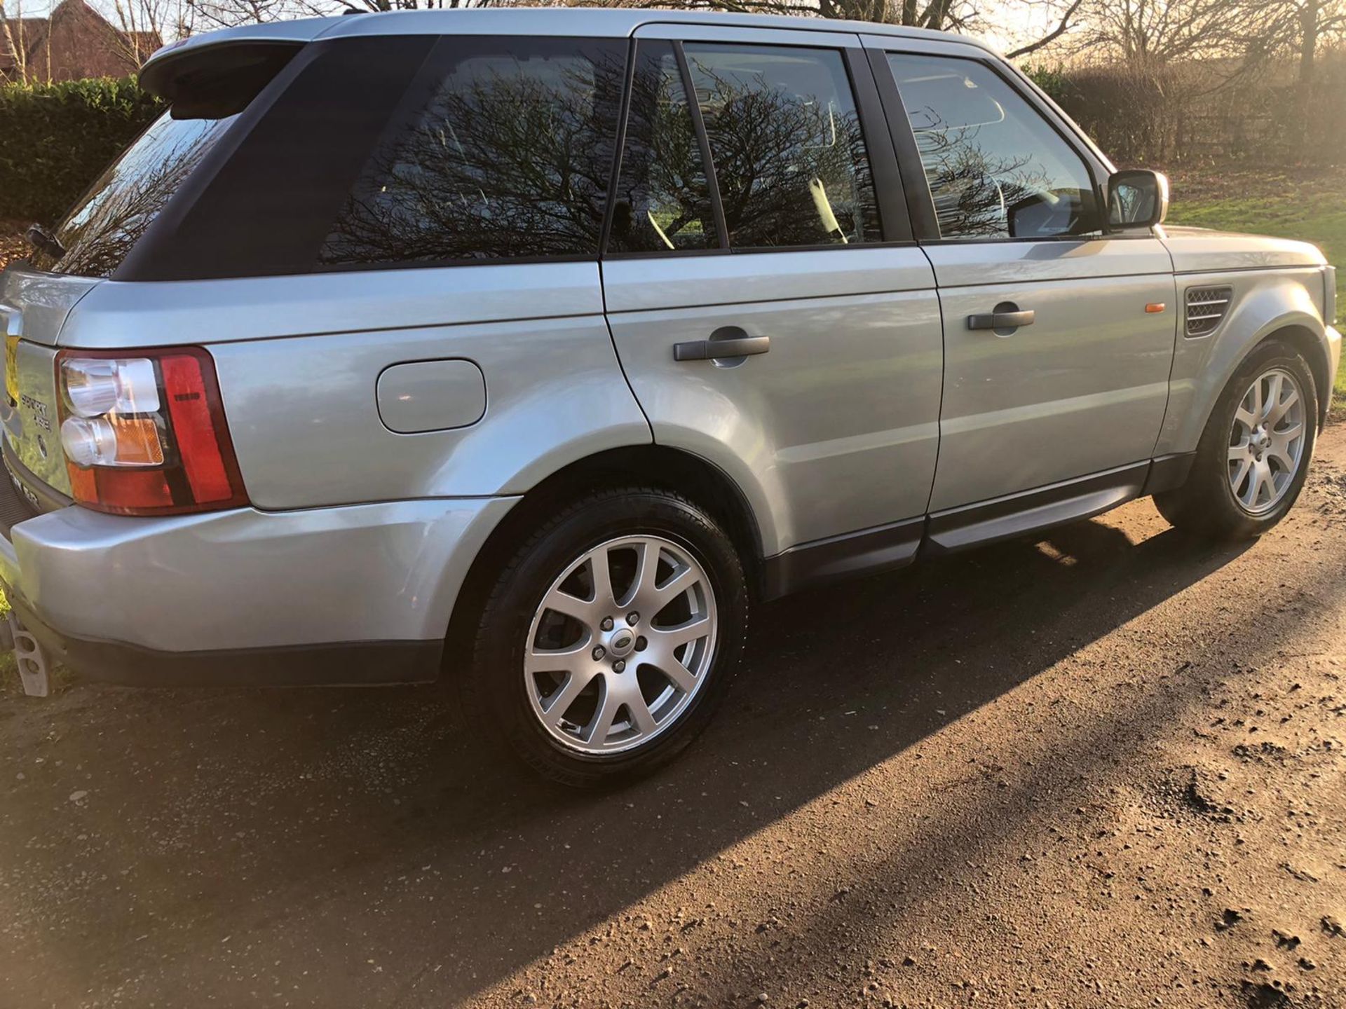
[[[0,581],[74,673],[145,685],[420,682],[514,498],[120,518],[70,507],[0,538]]]

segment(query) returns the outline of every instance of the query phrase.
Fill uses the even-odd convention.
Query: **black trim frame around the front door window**
[[[906,105],[902,101],[902,93],[898,89],[898,81],[892,74],[892,67],[888,66],[888,54],[895,55],[910,55],[910,57],[926,57],[934,59],[961,59],[969,63],[977,63],[996,77],[999,77],[1004,85],[1018,94],[1034,112],[1051,128],[1051,130],[1061,137],[1061,141],[1070,149],[1075,157],[1084,164],[1085,172],[1089,175],[1089,184],[1093,188],[1094,200],[1097,202],[1098,215],[1100,215],[1100,234],[1097,235],[1078,235],[1078,234],[1061,234],[1061,235],[1032,235],[1032,237],[1005,237],[1005,238],[944,238],[940,234],[940,223],[934,213],[934,196],[930,192],[930,183],[926,179],[925,165],[921,164],[921,153],[917,149],[915,132],[911,128],[911,118],[907,116]],[[1106,200],[1102,184],[1098,182],[1100,171],[1105,165],[1100,164],[1097,157],[1094,157],[1092,151],[1081,151],[1077,137],[1073,130],[1066,128],[1066,124],[1059,121],[1059,117],[1054,114],[1053,109],[1044,105],[1040,98],[1034,93],[1024,93],[1023,87],[1019,86],[1016,81],[1012,81],[1008,74],[1004,73],[1004,67],[999,66],[999,61],[988,57],[973,57],[973,55],[954,55],[949,52],[921,52],[917,50],[903,48],[900,43],[894,46],[882,46],[878,48],[870,48],[870,69],[874,71],[875,77],[879,79],[879,94],[883,98],[886,118],[888,120],[888,128],[892,130],[894,147],[898,148],[898,167],[902,172],[902,180],[907,186],[907,206],[911,207],[911,217],[914,231],[918,235],[917,241],[921,245],[972,245],[976,242],[996,242],[996,244],[1023,244],[1023,242],[1096,242],[1104,238],[1120,238],[1120,237],[1139,237],[1149,238],[1149,234],[1139,235],[1117,235],[1108,230],[1108,214],[1106,214]],[[913,180],[918,180],[917,186]]]

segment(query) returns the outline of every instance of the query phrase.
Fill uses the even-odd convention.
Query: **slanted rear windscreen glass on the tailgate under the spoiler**
[[[32,265],[59,273],[110,276],[236,118],[176,120],[164,113],[55,229],[65,256],[36,253]]]

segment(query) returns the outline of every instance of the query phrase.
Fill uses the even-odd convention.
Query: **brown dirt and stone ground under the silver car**
[[[1254,545],[1136,502],[754,630],[607,795],[437,687],[8,682],[0,1006],[1346,1006],[1346,426]]]

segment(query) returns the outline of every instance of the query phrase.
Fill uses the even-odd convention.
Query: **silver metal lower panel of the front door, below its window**
[[[945,320],[931,511],[1151,456],[1168,402],[1176,317],[1171,273],[1144,272],[1167,261],[1158,239],[926,252]],[[1084,276],[1054,278],[1070,273]],[[1016,280],[970,283],[977,277]],[[969,328],[969,317],[997,305],[1031,311],[1032,323]]]

